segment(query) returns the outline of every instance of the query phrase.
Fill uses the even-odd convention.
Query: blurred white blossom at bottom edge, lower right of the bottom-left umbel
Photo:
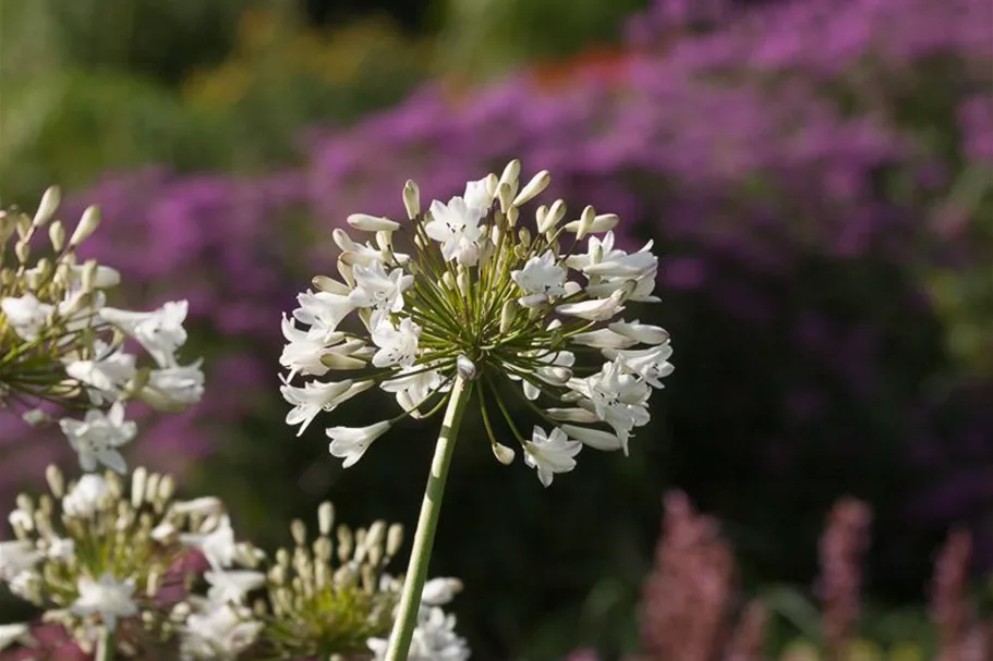
[[[233,661],[262,631],[262,623],[253,621],[247,609],[211,602],[205,607],[204,611],[186,617],[182,640],[184,660]]]

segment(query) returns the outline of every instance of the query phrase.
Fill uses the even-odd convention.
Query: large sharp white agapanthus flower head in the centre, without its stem
[[[402,417],[441,411],[456,383],[476,399],[497,458],[513,461],[500,439],[514,439],[545,486],[583,445],[627,453],[649,421],[652,389],[673,371],[669,335],[623,315],[658,301],[652,243],[627,253],[615,245],[617,216],[586,207],[564,222],[562,200],[525,222],[522,206],[550,178],[521,187],[519,173],[511,161],[427,210],[408,182],[408,222],[352,215],[349,224],[373,235],[364,243],[335,230],[340,280],[314,278],[282,322],[287,423],[302,432],[373,387],[402,408],[374,425],[328,427],[344,466]],[[511,417],[512,397],[538,423],[530,434]]]

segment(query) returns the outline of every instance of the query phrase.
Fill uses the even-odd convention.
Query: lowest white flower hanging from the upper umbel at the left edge
[[[124,420],[124,405],[116,402],[105,414],[96,408],[86,412],[82,420],[62,418],[59,420],[69,444],[80,455],[83,470],[94,470],[104,464],[112,470],[124,473],[124,457],[117,448],[131,441],[137,433],[137,426]]]

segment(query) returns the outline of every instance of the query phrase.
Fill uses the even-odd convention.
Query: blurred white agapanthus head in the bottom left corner
[[[190,658],[234,659],[218,654],[251,641],[261,624],[242,616],[243,607],[265,584],[256,571],[263,554],[234,541],[218,499],[177,502],[170,476],[141,467],[129,480],[106,472],[66,483],[55,466],[46,478],[50,493],[17,497],[8,516],[14,539],[0,542],[0,583],[44,621],[63,626],[84,649],[112,632],[129,658],[178,650],[182,641],[184,654],[190,646],[215,646],[213,656]],[[211,565],[206,573],[196,551]],[[7,631],[8,645],[29,641],[20,631]]]

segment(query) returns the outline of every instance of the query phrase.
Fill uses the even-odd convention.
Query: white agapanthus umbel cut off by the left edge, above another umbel
[[[52,187],[33,217],[0,211],[0,404],[19,406],[33,424],[52,409],[84,413],[59,420],[81,466],[123,473],[118,448],[136,432],[124,419],[126,401],[181,411],[203,394],[201,362],[181,365],[175,355],[186,341],[186,302],[150,313],[107,305],[120,273],[95,260],[80,264],[76,254],[99,225],[99,211],[87,208],[66,236],[55,220],[58,206]],[[150,364],[140,365],[134,345]]]

